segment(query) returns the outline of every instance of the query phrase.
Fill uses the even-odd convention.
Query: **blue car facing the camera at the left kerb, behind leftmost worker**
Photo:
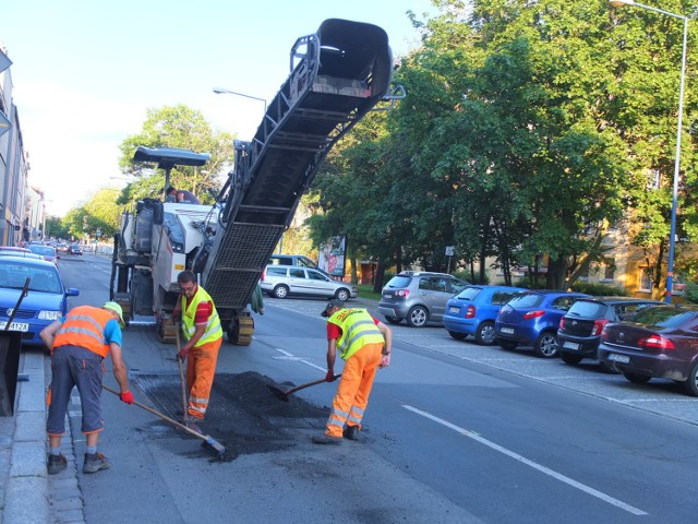
[[[27,296],[15,313],[11,331],[22,332],[22,344],[41,345],[39,332],[68,312],[68,297],[80,295],[65,289],[52,262],[23,257],[0,257],[0,330],[3,330],[29,277]]]

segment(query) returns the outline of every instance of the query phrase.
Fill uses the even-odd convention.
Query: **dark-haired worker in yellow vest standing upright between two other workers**
[[[179,321],[186,343],[177,358],[186,364],[186,388],[189,391],[188,422],[204,419],[208,408],[210,389],[216,374],[218,350],[222,344],[222,329],[216,306],[206,290],[196,283],[196,275],[182,271],[177,275],[181,299],[177,302],[172,318]]]

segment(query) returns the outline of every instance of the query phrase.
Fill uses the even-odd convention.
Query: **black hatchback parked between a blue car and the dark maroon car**
[[[570,366],[585,358],[599,358],[599,341],[609,322],[631,320],[638,312],[664,302],[628,297],[583,298],[571,305],[559,319],[557,350]]]

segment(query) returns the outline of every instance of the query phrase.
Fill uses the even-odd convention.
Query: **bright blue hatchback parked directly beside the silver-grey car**
[[[446,302],[444,327],[457,341],[470,335],[478,344],[491,346],[496,342],[494,321],[500,308],[525,290],[522,287],[510,286],[467,286]]]

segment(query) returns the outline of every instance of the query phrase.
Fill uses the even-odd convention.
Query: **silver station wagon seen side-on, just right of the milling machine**
[[[359,296],[359,289],[341,281],[333,281],[318,270],[297,265],[267,265],[260,279],[262,290],[276,298],[288,295],[338,298]]]

